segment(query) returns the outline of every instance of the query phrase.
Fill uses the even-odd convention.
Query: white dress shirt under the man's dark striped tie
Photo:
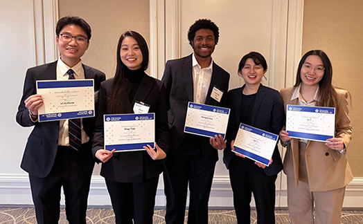
[[[69,80],[67,71],[72,69],[74,71],[74,77],[76,80],[85,80],[85,70],[83,69],[82,62],[78,62],[73,68],[64,64],[62,59],[57,61],[57,80]],[[85,129],[83,128],[83,120],[80,119],[80,128],[82,136],[82,144],[89,141]],[[68,119],[60,120],[60,135],[58,145],[69,146],[69,133],[68,133]]]

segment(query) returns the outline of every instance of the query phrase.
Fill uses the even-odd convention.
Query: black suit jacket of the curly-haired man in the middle
[[[193,102],[192,56],[168,61],[161,79],[166,88],[166,100],[168,102],[171,153],[177,151],[186,136],[186,133],[184,133],[186,109],[188,102]],[[223,91],[220,102],[211,98],[214,86]],[[226,106],[228,86],[229,73],[213,62],[212,79],[205,104]],[[205,159],[213,162],[218,160],[218,151],[209,144],[209,138],[202,139],[202,152]]]

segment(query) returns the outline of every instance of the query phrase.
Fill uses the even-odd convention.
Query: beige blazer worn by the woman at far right
[[[352,133],[351,120],[348,117],[348,92],[339,88],[336,88],[335,91],[337,91],[338,96],[338,106],[335,111],[335,138],[342,138],[346,148],[348,148]],[[293,87],[284,88],[280,91],[285,110],[287,104],[298,104],[298,99],[291,100],[293,92]],[[305,156],[310,191],[338,189],[345,187],[353,180],[346,155],[326,147],[324,142],[309,141]],[[287,176],[294,175],[296,186],[299,185],[298,139],[293,138],[287,146],[283,165],[285,174]]]

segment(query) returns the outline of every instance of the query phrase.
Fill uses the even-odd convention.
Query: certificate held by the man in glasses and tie
[[[37,81],[39,122],[94,117],[94,80]]]

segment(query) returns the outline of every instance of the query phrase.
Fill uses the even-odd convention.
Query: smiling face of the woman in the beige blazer
[[[324,77],[324,64],[317,55],[306,57],[303,66],[301,66],[300,77],[303,84],[308,86],[317,86]]]

